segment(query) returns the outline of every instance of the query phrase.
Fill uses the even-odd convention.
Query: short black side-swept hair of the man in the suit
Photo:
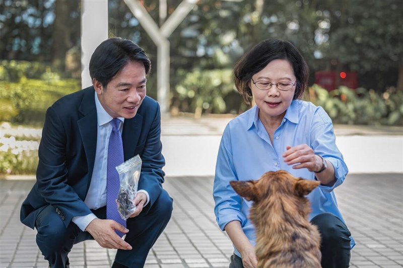
[[[91,79],[97,79],[106,88],[110,80],[130,61],[142,62],[146,74],[151,70],[151,61],[139,45],[127,39],[109,38],[103,41],[91,56]]]

